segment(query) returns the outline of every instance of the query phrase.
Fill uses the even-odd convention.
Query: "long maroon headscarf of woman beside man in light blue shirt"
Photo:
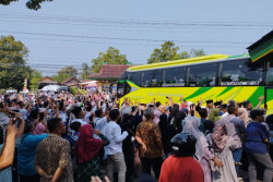
[[[79,163],[93,159],[104,146],[104,141],[93,137],[93,128],[85,124],[81,128],[79,139],[75,144],[75,154]]]

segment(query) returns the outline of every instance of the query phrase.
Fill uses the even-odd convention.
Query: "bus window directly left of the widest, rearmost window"
[[[189,70],[189,86],[215,86],[217,63],[191,65]]]

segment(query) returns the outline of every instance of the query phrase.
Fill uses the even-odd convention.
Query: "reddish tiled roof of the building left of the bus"
[[[88,78],[91,80],[118,80],[124,73],[124,71],[132,65],[124,64],[105,64],[102,66],[99,73],[91,74]]]

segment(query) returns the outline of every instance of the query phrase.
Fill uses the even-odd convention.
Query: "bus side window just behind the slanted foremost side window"
[[[151,70],[143,72],[142,87],[161,87],[163,80],[163,70]]]

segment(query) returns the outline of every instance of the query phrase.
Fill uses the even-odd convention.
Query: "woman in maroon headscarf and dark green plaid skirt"
[[[109,141],[99,131],[95,130],[102,139],[93,136],[93,128],[85,124],[81,128],[80,137],[75,144],[75,155],[78,157],[78,182],[90,182],[92,175],[102,179],[98,153],[109,144]]]

